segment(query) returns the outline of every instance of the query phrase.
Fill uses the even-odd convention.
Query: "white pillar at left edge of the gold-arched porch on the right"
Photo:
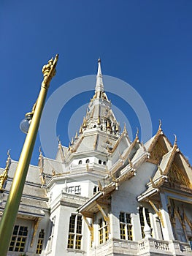
[[[174,240],[172,224],[169,219],[169,211],[167,208],[168,198],[166,197],[166,195],[164,195],[163,192],[160,193],[160,196],[161,196],[161,204],[162,204],[161,214],[162,214],[162,219],[164,219],[164,227],[162,227],[164,240],[167,240],[167,241]]]

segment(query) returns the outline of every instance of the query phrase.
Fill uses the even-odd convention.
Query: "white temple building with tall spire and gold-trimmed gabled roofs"
[[[145,144],[122,130],[99,60],[80,131],[29,167],[7,255],[192,256],[191,165],[161,124]],[[17,165],[0,169],[0,217]]]

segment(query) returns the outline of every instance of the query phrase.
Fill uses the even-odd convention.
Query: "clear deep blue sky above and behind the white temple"
[[[191,162],[191,13],[191,0],[2,0],[0,166],[5,166],[9,148],[12,159],[19,159],[26,136],[20,132],[20,121],[37,99],[42,66],[56,53],[57,74],[47,99],[67,81],[96,74],[96,61],[101,57],[104,75],[125,80],[141,95],[153,134],[161,118],[165,135],[172,143],[173,134],[177,135],[180,150]],[[89,99],[76,101],[85,104]],[[62,113],[57,127],[66,146],[65,127],[72,105]],[[137,122],[132,123],[131,113],[126,115],[135,131]],[[34,165],[39,146],[38,135],[31,160]]]

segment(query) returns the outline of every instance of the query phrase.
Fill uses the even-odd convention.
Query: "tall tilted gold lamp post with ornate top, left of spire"
[[[58,54],[55,56],[54,60],[51,59],[50,61],[48,61],[48,64],[46,64],[42,68],[44,79],[42,81],[39,97],[31,113],[26,114],[26,118],[30,122],[30,125],[26,135],[25,143],[23,145],[23,149],[20,154],[18,167],[15,171],[15,176],[12,181],[12,187],[9,191],[9,197],[7,198],[7,203],[4,208],[4,214],[0,222],[0,254],[1,256],[6,256],[7,251],[9,249],[9,244],[12,237],[12,230],[15,225],[15,219],[18,214],[20,199],[21,199],[23,187],[26,181],[28,165],[31,160],[34,143],[35,143],[37,132],[39,129],[39,122],[42,115],[42,110],[45,105],[47,90],[50,85],[50,80],[55,75],[55,67],[56,67],[57,61],[58,61]],[[20,127],[22,128],[21,125]]]

